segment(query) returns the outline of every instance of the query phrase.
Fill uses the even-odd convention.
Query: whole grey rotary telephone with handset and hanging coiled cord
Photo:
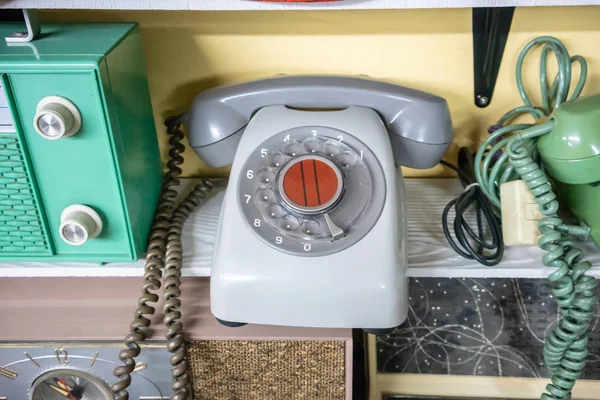
[[[400,166],[439,162],[452,141],[446,101],[347,77],[285,76],[211,89],[187,115],[165,122],[170,160],[142,296],[119,354],[123,364],[114,371],[116,400],[129,398],[162,271],[173,393],[191,398],[178,298],[180,235],[214,184],[205,180],[175,205],[184,120],[190,144],[208,165],[232,163],[211,271],[211,311],[220,322],[383,333],[404,321]]]

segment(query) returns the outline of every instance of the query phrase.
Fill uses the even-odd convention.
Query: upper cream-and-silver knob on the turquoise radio
[[[37,105],[33,127],[48,140],[73,136],[81,128],[81,114],[69,100],[48,96]]]

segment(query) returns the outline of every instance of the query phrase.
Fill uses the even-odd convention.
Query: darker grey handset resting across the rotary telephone
[[[396,163],[407,167],[434,166],[441,158],[438,147],[445,150],[452,142],[450,111],[441,97],[357,77],[284,76],[217,87],[196,96],[188,119],[190,145],[201,157],[201,153],[209,154],[210,161],[204,161],[211,166],[230,164],[235,148],[225,147],[234,145],[234,141],[221,143],[217,154],[210,154],[216,152],[213,145],[243,131],[252,115],[269,105],[372,108],[388,128]],[[401,139],[414,142],[409,144],[408,157],[402,149],[405,140]]]

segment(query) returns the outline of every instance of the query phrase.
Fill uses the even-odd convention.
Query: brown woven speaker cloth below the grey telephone
[[[343,400],[345,342],[210,340],[188,344],[199,400]]]

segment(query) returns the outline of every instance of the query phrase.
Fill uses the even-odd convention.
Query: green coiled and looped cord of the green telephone
[[[522,79],[523,61],[536,45],[543,44],[540,62],[542,106],[533,105],[525,92]],[[552,52],[558,63],[558,74],[549,84],[546,72],[548,54]],[[589,229],[563,224],[558,217],[558,201],[549,179],[536,162],[537,139],[548,134],[552,119],[546,120],[552,111],[567,101],[571,84],[571,65],[580,65],[580,77],[569,100],[581,94],[587,75],[587,64],[581,56],[570,57],[565,46],[556,38],[543,36],[525,46],[516,68],[519,94],[525,105],[510,110],[500,118],[496,129],[481,145],[475,155],[475,177],[483,192],[500,208],[500,185],[522,179],[533,194],[543,218],[538,223],[542,234],[539,246],[546,251],[542,262],[554,267],[548,279],[552,293],[560,307],[562,318],[544,343],[544,361],[551,373],[551,383],[541,400],[571,398],[575,380],[579,378],[588,354],[588,330],[597,303],[596,280],[585,275],[590,269],[588,261],[582,261],[582,251],[569,240],[569,235],[584,235]],[[523,114],[531,115],[536,122],[507,125]]]

